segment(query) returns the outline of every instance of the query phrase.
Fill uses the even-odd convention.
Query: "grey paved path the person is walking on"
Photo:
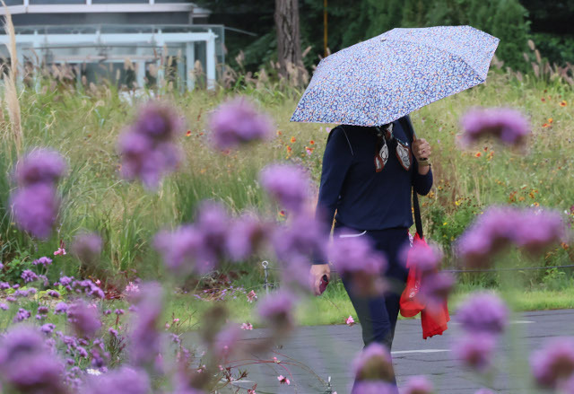
[[[522,374],[527,368],[530,350],[540,347],[547,337],[574,336],[574,310],[526,312],[515,315],[513,319],[509,331],[516,333],[513,336],[516,339],[507,336],[500,340],[494,386],[497,392],[522,394],[528,392],[520,387],[520,382],[529,379]],[[265,337],[265,330],[254,330],[249,334],[251,337]],[[434,382],[440,394],[474,394],[480,389],[480,381],[471,373],[463,371],[449,351],[455,337],[457,325],[454,323],[450,324],[443,336],[425,341],[422,339],[420,320],[399,320],[393,345],[399,387],[410,376],[422,374]],[[517,346],[511,346],[512,340],[517,341]],[[324,381],[327,376],[331,376],[333,391],[346,394],[352,382],[350,363],[361,347],[361,327],[358,325],[320,326],[299,328],[277,352],[305,363]],[[512,348],[518,348],[516,355],[513,355]],[[276,356],[286,360],[286,357]],[[517,360],[522,365],[517,365]],[[289,376],[280,365],[265,363],[249,365],[247,368],[247,380],[257,382],[257,394],[326,392],[323,382],[297,366],[290,366],[291,386],[280,385],[277,381],[276,376],[279,374]],[[250,388],[251,384],[246,382],[245,387]],[[245,390],[239,392],[245,393]]]

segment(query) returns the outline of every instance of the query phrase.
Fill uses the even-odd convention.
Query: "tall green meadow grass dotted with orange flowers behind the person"
[[[214,151],[208,143],[206,118],[221,101],[235,94],[248,95],[270,113],[277,136],[268,143],[240,151]],[[298,162],[309,169],[315,185],[318,184],[327,127],[334,125],[290,123],[300,92],[273,86],[186,94],[166,92],[161,99],[173,103],[187,119],[190,136],[179,139],[185,162],[158,190],[127,183],[118,175],[117,136],[134,118],[137,105],[151,96],[151,92],[137,98],[122,95],[110,86],[69,89],[46,83],[39,89],[23,89],[20,103],[24,150],[53,147],[65,155],[70,169],[60,184],[64,204],[57,232],[47,242],[33,241],[11,221],[8,195],[13,188],[10,173],[15,156],[13,143],[3,138],[0,251],[4,263],[13,258],[30,262],[51,255],[60,241],[69,244],[77,232],[88,229],[100,232],[104,240],[100,266],[79,267],[71,256],[57,257],[50,278],[56,279],[60,273],[91,276],[107,286],[121,288],[135,276],[165,275],[151,248],[153,234],[161,228],[192,221],[196,206],[206,198],[221,200],[233,213],[252,209],[267,217],[278,217],[281,207],[265,197],[258,182],[258,172],[266,164]],[[523,110],[532,124],[526,150],[511,151],[490,141],[473,149],[459,149],[458,119],[473,106]],[[428,197],[422,197],[423,223],[428,238],[445,249],[484,206],[511,203],[568,211],[574,205],[574,92],[569,85],[543,82],[527,75],[520,81],[512,74],[491,72],[487,83],[415,111],[412,119],[417,135],[429,140],[433,149],[435,186]],[[5,117],[0,129],[9,136],[10,122]],[[306,147],[313,149],[310,155]],[[261,259],[273,260],[273,256],[262,255],[246,262],[242,266],[245,272],[234,283],[244,288],[260,286]],[[572,249],[563,245],[538,260],[510,254],[504,265],[551,266],[572,261]],[[458,262],[448,255],[446,265],[458,267]],[[571,283],[550,290],[544,288],[547,276],[544,270],[522,275],[519,291],[525,296],[519,297],[518,310],[572,306]],[[466,275],[459,284],[463,288],[498,287],[500,280],[496,276]],[[238,320],[251,316],[251,304],[227,303]],[[176,297],[170,308],[174,313],[195,311],[198,316],[204,310],[202,302],[188,295]],[[352,313],[342,285],[335,282],[324,297],[307,303],[299,316],[304,325],[333,324]]]

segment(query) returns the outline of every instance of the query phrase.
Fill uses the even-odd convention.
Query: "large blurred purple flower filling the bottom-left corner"
[[[17,392],[64,393],[63,372],[35,328],[13,328],[0,341],[0,375]]]

